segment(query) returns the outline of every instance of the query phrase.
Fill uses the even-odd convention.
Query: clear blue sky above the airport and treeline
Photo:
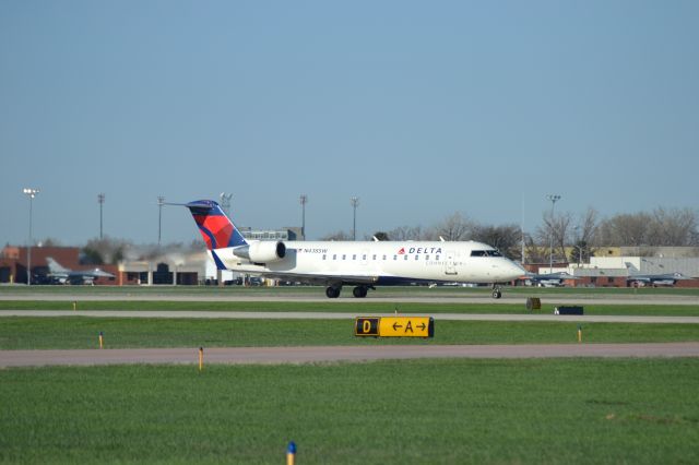
[[[156,196],[318,238],[699,199],[696,1],[4,1],[0,242],[157,240]],[[523,207],[522,207],[523,205]],[[522,215],[522,211],[524,215]],[[198,238],[166,207],[163,240]]]

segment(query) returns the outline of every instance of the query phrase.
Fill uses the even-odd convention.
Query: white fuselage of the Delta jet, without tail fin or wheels
[[[524,270],[481,242],[434,241],[289,241],[283,259],[252,263],[216,249],[227,270],[272,276],[301,276],[317,282],[365,284],[506,283]],[[210,251],[212,254],[212,251]]]

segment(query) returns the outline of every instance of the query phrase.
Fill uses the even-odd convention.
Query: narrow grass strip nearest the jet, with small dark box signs
[[[423,303],[386,302],[372,300],[358,301],[158,301],[158,300],[78,300],[81,310],[193,310],[193,311],[311,311],[311,312],[366,312],[392,313],[531,313],[522,303]],[[553,303],[544,302],[534,313],[553,313]],[[699,303],[696,306],[670,305],[607,305],[591,301],[583,306],[585,314],[617,315],[677,315],[699,317]],[[73,302],[66,300],[0,300],[0,310],[72,310]]]

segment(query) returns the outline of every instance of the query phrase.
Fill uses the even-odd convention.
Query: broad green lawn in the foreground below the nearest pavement
[[[0,370],[2,463],[697,463],[699,359]]]

